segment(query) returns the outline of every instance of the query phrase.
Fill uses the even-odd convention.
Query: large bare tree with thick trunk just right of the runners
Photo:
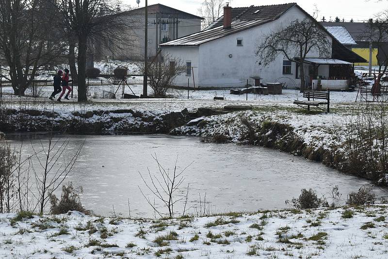
[[[88,48],[96,42],[110,49],[124,47],[122,43],[128,39],[124,32],[129,33],[131,20],[125,12],[118,13],[120,9],[114,0],[64,0],[60,10],[63,26],[74,35],[78,44],[78,101],[86,101]],[[72,52],[74,43],[70,43]]]

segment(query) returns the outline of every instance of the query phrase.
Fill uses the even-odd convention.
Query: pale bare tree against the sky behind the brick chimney
[[[204,0],[198,13],[205,18],[203,29],[215,22],[221,15],[223,15],[223,8],[226,2],[232,0]]]

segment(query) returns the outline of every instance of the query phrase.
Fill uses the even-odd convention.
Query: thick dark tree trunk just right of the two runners
[[[87,101],[86,95],[86,51],[87,36],[78,37],[78,101]]]

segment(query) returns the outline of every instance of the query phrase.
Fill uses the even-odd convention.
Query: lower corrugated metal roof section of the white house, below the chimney
[[[234,21],[232,22],[231,29],[224,29],[224,26],[220,26],[214,29],[202,30],[200,32],[182,37],[167,43],[163,43],[161,47],[172,47],[172,46],[198,46],[205,42],[209,42],[238,31],[247,30],[252,27],[259,26],[261,24],[267,23],[270,20],[254,20],[254,21]]]

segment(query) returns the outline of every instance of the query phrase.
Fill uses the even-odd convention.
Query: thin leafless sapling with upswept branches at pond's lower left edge
[[[43,213],[49,197],[52,196],[65,179],[70,175],[74,168],[78,156],[81,153],[84,142],[80,144],[76,152],[67,157],[66,149],[69,141],[61,141],[60,138],[54,140],[50,134],[47,147],[40,141],[42,152],[36,152],[35,147],[32,149],[35,153],[35,158],[38,161],[37,166],[32,163],[32,171],[35,176],[35,184],[37,193],[34,194],[38,200],[37,207],[40,213]],[[43,155],[40,155],[42,153]],[[59,166],[58,166],[59,165]]]

